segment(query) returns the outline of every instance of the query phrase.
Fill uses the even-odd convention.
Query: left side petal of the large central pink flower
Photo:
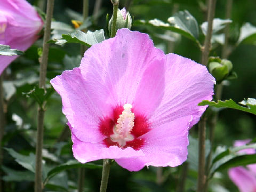
[[[100,105],[99,98],[93,98],[91,87],[84,81],[79,68],[64,71],[51,80],[54,89],[61,95],[62,112],[73,127],[76,137],[85,142],[99,142],[106,138],[99,132],[102,111],[110,114],[107,105]],[[97,90],[95,90],[97,91]]]

